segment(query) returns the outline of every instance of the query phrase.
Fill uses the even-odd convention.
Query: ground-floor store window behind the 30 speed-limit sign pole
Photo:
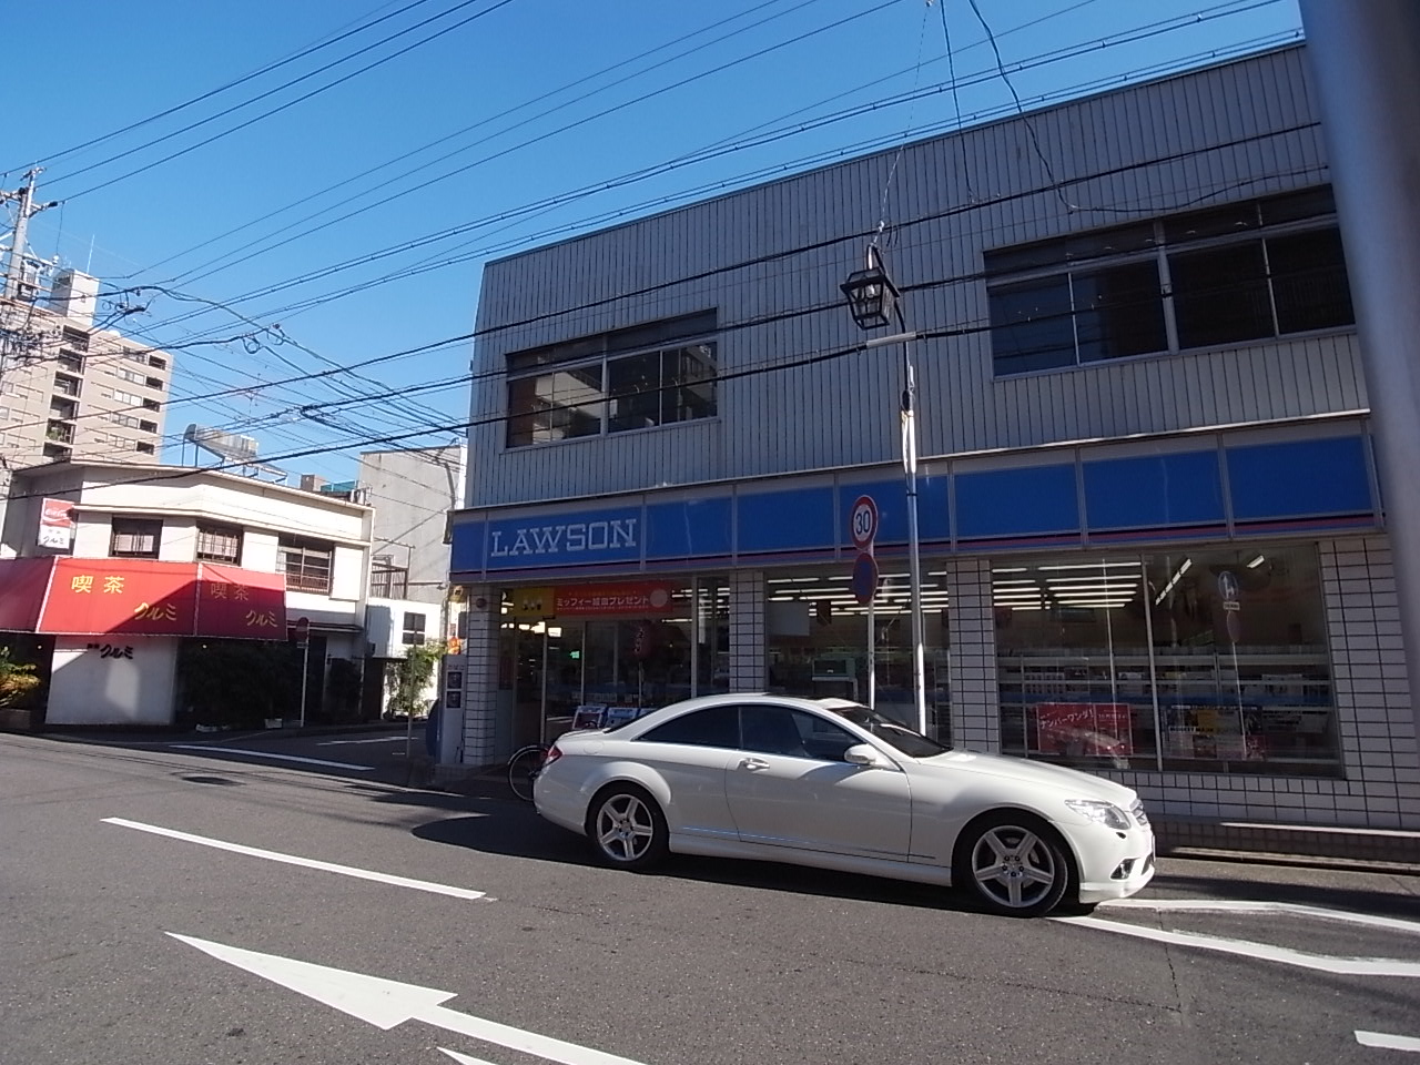
[[[899,562],[900,565],[900,562]],[[950,733],[947,591],[944,574],[924,567],[922,582],[927,731]],[[917,728],[912,690],[912,589],[906,569],[883,567],[869,608],[849,588],[846,567],[768,574],[764,605],[770,692],[807,699],[852,699]]]

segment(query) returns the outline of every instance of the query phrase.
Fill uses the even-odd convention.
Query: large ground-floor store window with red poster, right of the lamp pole
[[[1335,774],[1309,547],[993,569],[1003,748],[1086,767]]]

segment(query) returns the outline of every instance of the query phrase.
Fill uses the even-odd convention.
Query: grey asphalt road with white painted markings
[[[179,743],[0,736],[4,1065],[1420,1065],[1417,878],[1163,859],[1143,905],[1021,922],[594,868],[392,782],[402,734]]]

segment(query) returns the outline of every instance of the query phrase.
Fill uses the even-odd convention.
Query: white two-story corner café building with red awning
[[[0,534],[16,555],[0,559],[0,639],[47,674],[47,724],[200,719],[180,665],[226,640],[294,642],[302,713],[348,716],[371,650],[371,524],[368,506],[214,470],[17,470]],[[253,701],[274,683],[248,682]]]

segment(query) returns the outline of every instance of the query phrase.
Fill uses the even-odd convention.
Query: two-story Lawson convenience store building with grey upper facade
[[[902,362],[839,293],[878,239],[929,730],[1169,816],[1420,828],[1406,544],[1308,78],[1274,50],[487,264],[463,761],[713,692],[912,719]]]

